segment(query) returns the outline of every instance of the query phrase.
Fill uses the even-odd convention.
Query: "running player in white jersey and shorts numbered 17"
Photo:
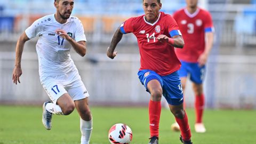
[[[13,69],[13,83],[20,83],[21,55],[24,44],[39,36],[36,51],[39,62],[40,81],[52,102],[43,105],[43,125],[51,129],[52,115],[69,115],[76,108],[80,115],[81,143],[89,143],[92,132],[92,116],[88,105],[87,92],[70,49],[82,57],[86,53],[86,37],[81,21],[71,16],[74,0],[55,0],[55,14],[36,20],[20,36],[16,47],[16,60]]]

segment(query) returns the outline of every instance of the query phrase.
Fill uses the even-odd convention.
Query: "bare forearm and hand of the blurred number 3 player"
[[[205,36],[206,36],[205,50],[198,58],[198,63],[199,63],[199,66],[201,67],[206,64],[208,56],[212,50],[212,45],[213,45],[213,33],[206,33]]]

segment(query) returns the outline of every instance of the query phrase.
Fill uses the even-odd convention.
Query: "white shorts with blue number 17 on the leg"
[[[89,97],[77,70],[65,75],[44,76],[41,78],[41,84],[54,103],[65,93],[68,93],[74,101]]]

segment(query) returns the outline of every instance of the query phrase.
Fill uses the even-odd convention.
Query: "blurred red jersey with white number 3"
[[[211,14],[199,8],[193,14],[187,9],[181,9],[174,12],[173,18],[177,21],[185,42],[183,49],[175,50],[178,58],[186,62],[197,62],[205,49],[205,33],[214,31]]]

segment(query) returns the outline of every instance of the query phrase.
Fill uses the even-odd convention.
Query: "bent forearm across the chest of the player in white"
[[[72,45],[72,47],[75,49],[75,51],[78,54],[80,54],[82,57],[84,57],[84,55],[86,54],[86,43],[85,43],[85,41],[76,42],[73,38],[71,38],[66,33],[66,31],[64,31],[62,29],[55,30],[55,33],[57,33],[62,38],[65,38]]]

